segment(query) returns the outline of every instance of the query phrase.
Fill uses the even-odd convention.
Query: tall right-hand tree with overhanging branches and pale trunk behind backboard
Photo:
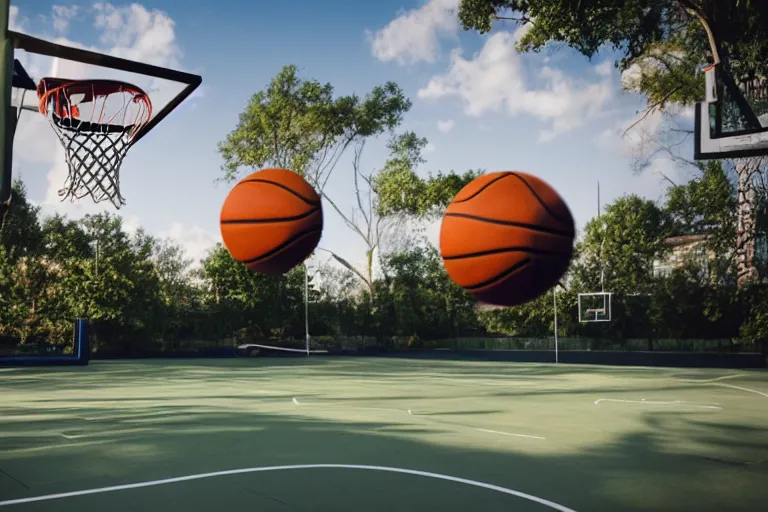
[[[509,11],[513,14],[507,15]],[[518,44],[521,51],[539,51],[555,42],[591,58],[611,45],[622,54],[618,67],[635,71],[627,87],[648,100],[643,117],[701,100],[704,84],[697,69],[702,65],[719,64],[731,93],[740,84],[768,78],[765,0],[461,0],[459,19],[465,29],[480,32],[490,30],[494,20],[530,23]],[[731,95],[738,100],[738,94]],[[744,287],[757,278],[755,180],[766,164],[759,158],[741,159],[733,166],[739,219],[734,249],[739,285]]]

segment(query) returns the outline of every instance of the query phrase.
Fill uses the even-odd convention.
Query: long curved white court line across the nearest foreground
[[[564,505],[557,504],[553,501],[549,501],[544,498],[539,498],[538,496],[534,496],[532,494],[526,494],[521,491],[515,491],[514,489],[508,489],[506,487],[501,487],[498,485],[487,484],[485,482],[478,482],[477,480],[469,480],[467,478],[441,475],[440,473],[430,473],[428,471],[418,471],[415,469],[392,468],[392,467],[386,467],[386,466],[364,466],[364,465],[358,465],[358,464],[301,464],[301,465],[295,465],[295,466],[267,466],[267,467],[231,469],[228,471],[200,473],[197,475],[187,475],[187,476],[180,476],[176,478],[165,478],[162,480],[148,480],[146,482],[138,482],[135,484],[114,485],[110,487],[98,487],[95,489],[86,489],[83,491],[63,492],[59,494],[47,494],[44,496],[34,496],[31,498],[5,500],[5,501],[0,501],[0,507],[7,507],[9,505],[21,505],[22,503],[34,503],[37,501],[51,501],[51,500],[58,500],[62,498],[73,498],[76,496],[87,496],[89,494],[104,494],[108,492],[125,491],[128,489],[141,489],[144,487],[154,487],[158,485],[175,484],[179,482],[189,482],[191,480],[203,480],[205,478],[214,478],[219,476],[242,475],[246,473],[259,473],[259,472],[266,472],[266,471],[288,471],[288,470],[294,470],[294,469],[358,469],[358,470],[365,470],[365,471],[384,471],[387,473],[400,473],[404,475],[423,476],[426,478],[434,478],[436,480],[446,480],[448,482],[456,482],[459,484],[471,485],[473,487],[480,487],[482,489],[488,489],[490,491],[500,492],[502,494],[509,494],[511,496],[516,496],[524,500],[539,503],[540,505],[544,505],[545,507],[549,507],[553,510],[558,510],[559,512],[576,512],[575,510],[570,509]]]

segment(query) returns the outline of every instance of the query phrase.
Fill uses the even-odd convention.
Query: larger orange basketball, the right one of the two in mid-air
[[[522,172],[480,176],[445,211],[440,254],[478,300],[516,306],[563,276],[573,256],[573,217],[547,183]]]

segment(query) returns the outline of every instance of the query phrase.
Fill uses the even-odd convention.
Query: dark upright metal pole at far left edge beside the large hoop
[[[10,0],[0,0],[0,227],[13,195],[13,135],[16,131],[16,108],[13,95],[13,41],[8,37],[11,18]]]

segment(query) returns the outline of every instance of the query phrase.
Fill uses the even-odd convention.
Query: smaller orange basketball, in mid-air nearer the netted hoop
[[[240,181],[221,208],[221,237],[251,270],[279,275],[304,261],[320,242],[320,196],[287,169],[263,169]]]

